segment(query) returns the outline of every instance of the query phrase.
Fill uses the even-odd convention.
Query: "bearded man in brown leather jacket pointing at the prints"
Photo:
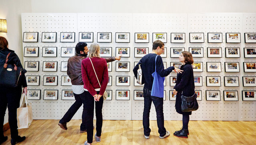
[[[70,57],[68,59],[67,65],[67,74],[71,79],[72,90],[75,97],[76,102],[69,108],[68,112],[63,116],[63,118],[59,121],[58,125],[67,130],[67,122],[69,122],[77,110],[85,104],[85,92],[84,92],[84,83],[82,80],[82,71],[81,71],[81,63],[82,60],[85,59],[88,55],[88,47],[84,42],[79,42],[76,44],[76,55]],[[120,61],[121,56],[118,57],[109,57],[106,58],[107,63],[118,60]],[[86,132],[86,109],[85,105],[83,107],[82,113],[82,124],[80,125],[80,133]]]

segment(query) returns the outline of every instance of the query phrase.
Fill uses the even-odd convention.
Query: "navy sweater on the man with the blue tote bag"
[[[155,65],[156,65],[156,72],[161,76],[168,76],[172,70],[174,70],[174,67],[168,67],[167,69],[164,69],[162,57],[160,55],[156,59],[156,53],[150,53],[142,57],[140,59],[140,62],[134,67],[133,73],[135,77],[137,78],[137,70],[139,69],[139,64],[142,69],[142,84],[144,84],[144,88],[147,88],[149,90],[152,90],[153,85],[153,76],[152,73],[155,72]]]

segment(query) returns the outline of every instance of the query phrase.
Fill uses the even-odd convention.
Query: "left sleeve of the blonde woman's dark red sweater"
[[[82,79],[83,79],[83,82],[84,82],[84,86],[86,87],[86,89],[89,91],[89,93],[94,96],[95,94],[97,94],[97,92],[95,91],[94,87],[92,86],[92,84],[90,84],[90,81],[89,81],[89,78],[88,78],[88,75],[87,75],[87,72],[86,72],[86,63],[90,63],[91,65],[91,62],[88,62],[88,59],[83,59],[82,60]],[[87,64],[88,65],[88,64]]]

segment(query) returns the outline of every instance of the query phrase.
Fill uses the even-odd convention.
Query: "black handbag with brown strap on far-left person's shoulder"
[[[10,53],[6,57],[4,67],[0,67],[0,86],[14,88],[18,86],[22,68],[17,67],[15,64],[7,64],[9,55]]]

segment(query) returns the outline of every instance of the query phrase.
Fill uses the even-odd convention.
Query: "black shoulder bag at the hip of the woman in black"
[[[191,97],[186,97],[181,95],[181,111],[182,112],[196,111],[198,109],[198,103],[196,98],[197,98],[196,93]]]

